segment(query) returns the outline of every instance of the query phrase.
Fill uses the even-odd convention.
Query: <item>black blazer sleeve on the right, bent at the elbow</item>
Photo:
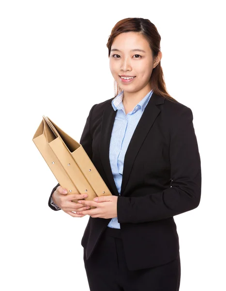
[[[139,197],[119,196],[119,223],[166,219],[198,207],[201,198],[201,162],[193,126],[193,113],[184,107],[172,117],[169,158],[171,187]]]

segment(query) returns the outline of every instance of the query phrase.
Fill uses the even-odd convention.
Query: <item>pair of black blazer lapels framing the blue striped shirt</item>
[[[114,177],[111,171],[111,165],[109,160],[109,147],[111,132],[113,129],[115,116],[117,111],[114,111],[111,105],[112,99],[107,103],[106,108],[103,113],[102,125],[101,125],[101,142],[100,142],[100,153],[101,153],[101,162],[103,164],[105,174],[108,178],[108,181],[113,189],[112,194],[119,196],[117,187],[115,185]],[[157,106],[163,104],[165,98],[155,93],[152,93],[151,98],[148,104],[145,107],[145,110],[136,126],[134,134],[131,138],[127,151],[124,158],[123,174],[122,174],[122,184],[121,184],[121,195],[125,192],[126,185],[128,183],[130,172],[133,167],[136,155],[144,142],[151,126],[153,125],[156,117],[161,112],[161,109]]]

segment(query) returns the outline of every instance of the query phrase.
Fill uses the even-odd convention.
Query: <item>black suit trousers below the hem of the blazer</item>
[[[139,252],[137,246],[137,252]],[[84,264],[90,291],[179,291],[181,260],[130,271],[127,268],[121,230],[107,227],[92,255]]]

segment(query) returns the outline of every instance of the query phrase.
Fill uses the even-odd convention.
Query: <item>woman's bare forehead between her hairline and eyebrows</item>
[[[143,49],[149,51],[149,43],[146,38],[138,32],[123,32],[114,39],[111,50],[130,51],[131,49]]]

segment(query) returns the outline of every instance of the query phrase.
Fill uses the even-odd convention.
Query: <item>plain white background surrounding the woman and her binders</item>
[[[57,180],[32,138],[45,115],[79,141],[91,106],[114,97],[106,43],[126,17],[148,18],[157,27],[167,90],[194,115],[202,195],[198,208],[174,216],[180,291],[226,290],[222,5],[0,1],[1,290],[89,291],[80,244],[89,216],[48,207]]]

